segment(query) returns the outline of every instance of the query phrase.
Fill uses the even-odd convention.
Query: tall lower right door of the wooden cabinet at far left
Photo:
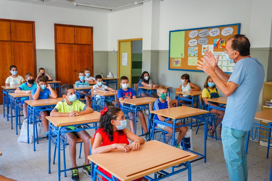
[[[34,74],[33,43],[32,42],[11,42],[12,64],[16,65],[18,75],[31,72]]]

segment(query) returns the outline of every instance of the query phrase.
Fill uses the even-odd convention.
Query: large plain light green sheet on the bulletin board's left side
[[[185,31],[170,33],[170,58],[184,58]]]

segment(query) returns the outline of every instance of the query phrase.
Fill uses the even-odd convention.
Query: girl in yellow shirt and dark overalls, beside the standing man
[[[211,76],[207,77],[207,79],[204,83],[204,88],[205,89],[203,89],[203,91],[202,91],[202,99],[204,101],[203,109],[208,110],[209,101],[207,101],[207,99],[218,98],[219,92],[218,92],[218,89],[216,88],[215,83],[212,81]],[[216,102],[211,102],[210,105],[225,108],[224,105],[220,106]],[[216,123],[214,125],[214,128],[212,126],[210,126],[210,135],[214,136],[215,129],[218,126],[218,124],[223,120],[223,117],[225,115],[225,111],[212,109],[212,110],[210,110],[210,113],[216,114],[216,116],[218,118],[218,119],[216,119]],[[221,131],[222,131],[222,126],[220,126],[220,135],[221,135]]]

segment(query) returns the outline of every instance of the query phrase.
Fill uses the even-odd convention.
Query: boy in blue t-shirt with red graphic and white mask
[[[120,85],[122,86],[122,88],[120,88],[117,91],[117,99],[119,99],[119,101],[124,100],[124,99],[135,99],[136,98],[134,90],[131,88],[128,88],[128,77],[122,76],[120,78]],[[120,102],[119,102],[119,107],[122,109],[122,105]],[[129,114],[131,114],[130,116],[132,116],[132,113],[129,113]],[[142,111],[138,111],[138,117],[140,119],[144,133],[147,134],[148,130],[147,130],[147,126],[146,126],[146,118],[144,117],[144,114]],[[134,133],[134,121],[129,120],[129,125],[130,125],[131,132]],[[147,141],[149,141],[149,135],[146,135],[145,137],[146,137]]]

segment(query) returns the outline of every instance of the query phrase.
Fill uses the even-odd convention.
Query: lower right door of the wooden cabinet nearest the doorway
[[[75,68],[77,73],[79,71],[83,71],[85,68],[89,68],[91,70],[91,45],[75,45]],[[76,74],[76,79],[78,78],[78,74]]]

